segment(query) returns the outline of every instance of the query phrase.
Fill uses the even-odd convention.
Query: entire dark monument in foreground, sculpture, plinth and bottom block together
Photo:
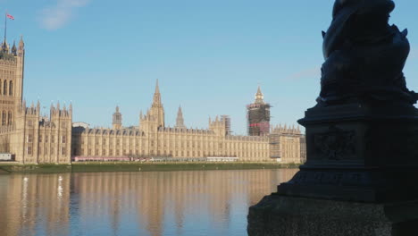
[[[388,24],[394,7],[336,0],[318,104],[298,121],[306,162],[250,207],[248,235],[418,235],[418,97],[402,72],[407,31]]]

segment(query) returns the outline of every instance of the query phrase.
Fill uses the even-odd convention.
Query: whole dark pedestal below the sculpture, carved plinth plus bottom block
[[[418,235],[413,105],[317,105],[299,122],[307,161],[250,207],[248,235]]]

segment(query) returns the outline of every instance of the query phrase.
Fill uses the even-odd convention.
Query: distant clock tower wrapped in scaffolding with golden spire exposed
[[[270,131],[270,104],[264,103],[260,86],[255,94],[255,102],[247,105],[248,135],[265,136]]]

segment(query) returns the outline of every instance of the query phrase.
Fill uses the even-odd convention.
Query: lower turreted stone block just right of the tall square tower
[[[69,164],[71,161],[72,105],[51,105],[50,115],[41,116],[40,104],[16,109],[9,152],[23,164]]]

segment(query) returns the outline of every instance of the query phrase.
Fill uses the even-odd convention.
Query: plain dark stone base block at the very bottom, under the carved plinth
[[[371,204],[272,194],[251,206],[251,236],[414,236],[418,201]]]

